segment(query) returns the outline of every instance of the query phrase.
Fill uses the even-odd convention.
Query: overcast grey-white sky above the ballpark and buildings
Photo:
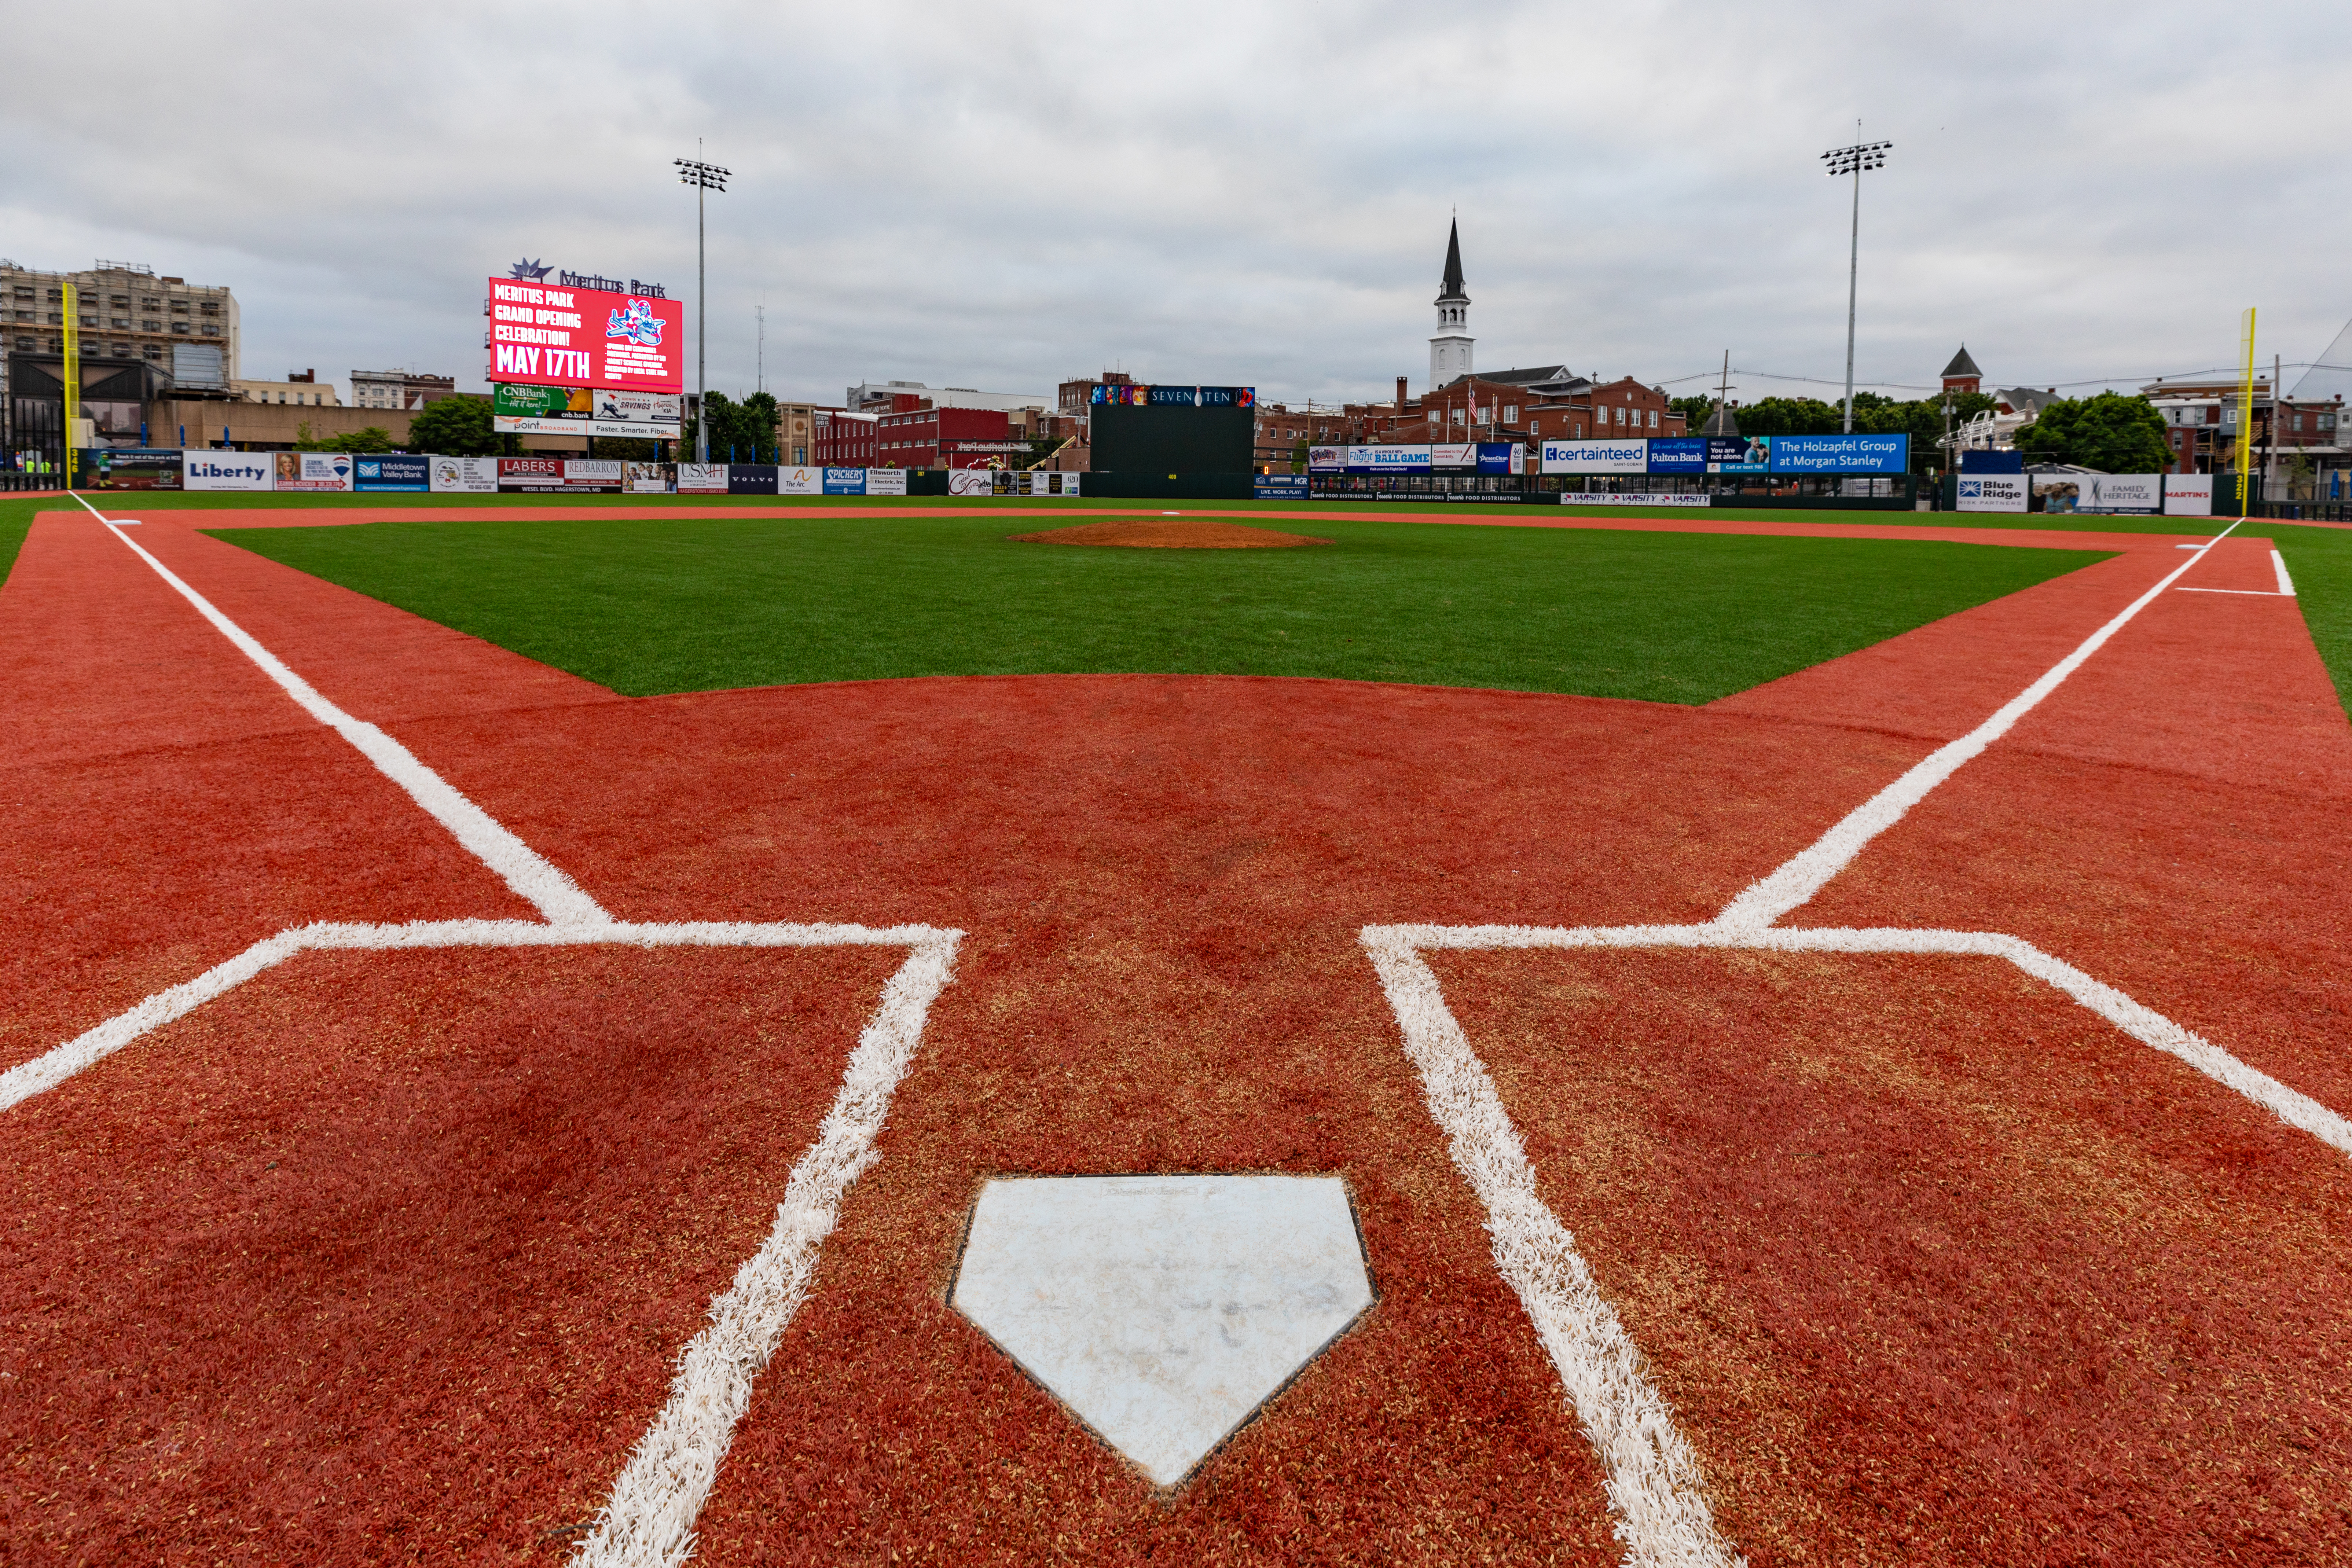
[[[19,7],[0,254],[230,284],[247,376],[482,386],[520,256],[689,299],[710,386],[1049,393],[1122,367],[1428,378],[1451,214],[1477,364],[1835,397],[2326,360],[2352,317],[2340,5]],[[689,315],[691,324],[691,315]],[[691,376],[691,371],[689,371]],[[1811,383],[1804,378],[1813,378]],[[2288,369],[2288,386],[2298,378]],[[2352,376],[2336,378],[2352,388]]]

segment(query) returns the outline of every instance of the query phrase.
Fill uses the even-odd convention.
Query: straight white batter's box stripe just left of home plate
[[[776,1227],[710,1302],[710,1326],[677,1359],[670,1401],[628,1455],[595,1533],[572,1559],[581,1568],[673,1568],[694,1552],[694,1521],[750,1408],[753,1378],[809,1295],[816,1251],[840,1218],[842,1194],[875,1159],[875,1133],[915,1058],[931,999],[948,983],[960,936],[941,931],[917,943],[882,987],[882,1006],[849,1053],[833,1110],[793,1166]]]

